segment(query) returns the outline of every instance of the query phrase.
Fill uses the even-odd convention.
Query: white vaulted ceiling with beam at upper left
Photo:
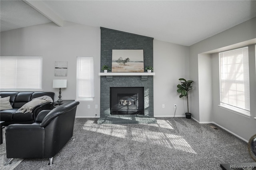
[[[254,0],[0,1],[0,30],[64,21],[190,46],[256,17]]]

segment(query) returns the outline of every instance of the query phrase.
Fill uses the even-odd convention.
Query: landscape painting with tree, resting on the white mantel
[[[143,49],[112,49],[112,72],[144,72]]]

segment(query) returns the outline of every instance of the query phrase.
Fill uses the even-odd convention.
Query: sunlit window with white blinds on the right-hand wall
[[[219,53],[220,106],[250,115],[248,47]]]

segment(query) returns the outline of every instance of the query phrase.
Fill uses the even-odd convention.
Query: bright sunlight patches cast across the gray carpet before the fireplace
[[[158,123],[157,123],[158,124]],[[159,121],[158,127],[172,127],[167,122]],[[161,145],[168,148],[182,150],[197,154],[191,146],[186,142],[182,136],[156,132],[147,129],[127,127],[125,125],[114,125],[114,124],[95,124],[93,121],[87,121],[84,126],[84,130],[90,130],[92,132],[98,132],[106,135],[115,136],[118,138],[127,138],[128,140],[134,140],[137,142],[143,142],[145,144]]]

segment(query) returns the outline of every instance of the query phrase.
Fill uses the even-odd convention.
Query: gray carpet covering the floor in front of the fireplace
[[[15,170],[221,170],[221,163],[253,162],[246,142],[192,119],[123,125],[97,120],[76,119],[74,140],[52,166],[48,159],[24,159]]]

